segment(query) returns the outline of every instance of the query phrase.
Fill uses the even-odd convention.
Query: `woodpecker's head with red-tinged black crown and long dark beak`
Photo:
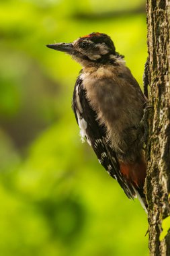
[[[91,33],[71,43],[47,44],[56,51],[68,53],[83,67],[114,63],[122,55],[116,53],[114,42],[107,34]]]

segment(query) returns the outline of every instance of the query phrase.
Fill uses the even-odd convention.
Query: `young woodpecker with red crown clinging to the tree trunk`
[[[147,212],[143,188],[146,161],[139,135],[146,97],[124,56],[116,52],[110,36],[99,32],[47,46],[71,55],[83,67],[72,102],[81,138],[128,198],[137,196]]]

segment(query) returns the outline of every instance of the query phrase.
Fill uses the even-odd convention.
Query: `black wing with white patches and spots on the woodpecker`
[[[97,114],[91,108],[87,100],[86,92],[83,89],[82,80],[77,78],[73,93],[73,111],[81,129],[81,137],[85,137],[93,148],[99,162],[107,170],[111,177],[116,179],[129,198],[134,198],[136,193],[134,187],[120,172],[120,165],[116,153],[112,150],[106,139],[104,125],[97,121]]]

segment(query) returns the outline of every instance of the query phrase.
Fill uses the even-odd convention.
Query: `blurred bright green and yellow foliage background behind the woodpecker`
[[[109,34],[142,87],[144,0],[0,3],[0,255],[145,256],[147,218],[81,143],[81,67],[46,44]]]

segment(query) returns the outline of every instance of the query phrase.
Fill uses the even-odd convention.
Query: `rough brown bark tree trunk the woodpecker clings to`
[[[146,199],[150,254],[170,255],[170,230],[162,241],[162,222],[170,215],[170,0],[147,0],[148,84],[151,86],[146,158]]]

